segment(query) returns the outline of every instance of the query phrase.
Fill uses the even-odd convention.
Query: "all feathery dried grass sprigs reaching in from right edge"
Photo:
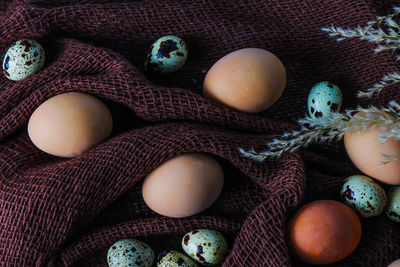
[[[376,21],[370,21],[367,26],[358,26],[355,29],[343,29],[341,27],[322,28],[322,31],[328,32],[329,36],[342,41],[346,38],[360,38],[369,42],[377,43],[374,49],[375,53],[381,51],[395,52],[400,48],[400,25],[395,21],[400,15],[400,8],[393,8],[393,14],[387,16],[378,16]],[[400,61],[400,56],[396,57]],[[386,75],[382,80],[374,84],[366,92],[359,92],[358,97],[371,97],[375,93],[381,92],[384,88],[400,83],[400,74],[395,72]],[[362,112],[362,116],[353,115]],[[387,108],[370,107],[367,109],[358,107],[353,110],[346,110],[344,113],[332,112],[327,117],[311,119],[306,116],[298,120],[300,129],[284,133],[281,139],[269,141],[267,150],[256,152],[253,148],[246,151],[238,148],[239,152],[247,157],[258,161],[266,158],[280,157],[285,152],[294,152],[300,148],[309,146],[312,143],[330,142],[339,140],[346,132],[361,131],[365,129],[374,129],[379,127],[383,133],[376,138],[384,143],[389,138],[400,140],[400,105],[391,101]],[[392,155],[382,155],[387,164],[394,160],[400,160],[396,151]]]

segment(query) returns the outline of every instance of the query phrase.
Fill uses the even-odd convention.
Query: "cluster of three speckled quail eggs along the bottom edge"
[[[161,252],[157,257],[158,267],[195,267],[197,263],[213,266],[220,263],[228,245],[222,234],[210,229],[197,229],[182,238],[182,249]],[[154,251],[136,239],[122,239],[115,242],[107,253],[109,267],[150,267],[154,262]]]

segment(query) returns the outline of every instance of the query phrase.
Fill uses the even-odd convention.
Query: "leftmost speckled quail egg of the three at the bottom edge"
[[[115,242],[107,253],[109,267],[151,267],[153,250],[136,239],[122,239]]]

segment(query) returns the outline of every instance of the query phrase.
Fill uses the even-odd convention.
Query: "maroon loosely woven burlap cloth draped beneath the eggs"
[[[354,27],[379,10],[367,1],[1,1],[0,48],[32,38],[47,53],[44,69],[20,82],[0,78],[0,266],[106,266],[108,247],[138,238],[156,253],[179,249],[194,228],[223,233],[223,266],[300,266],[285,241],[296,208],[316,199],[339,200],[341,181],[359,173],[342,143],[318,145],[258,163],[237,147],[265,142],[296,128],[309,89],[338,84],[344,108],[400,100],[397,88],[358,100],[399,66],[359,40],[337,43],[320,28]],[[146,76],[154,40],[182,37],[190,55],[176,74]],[[207,70],[225,54],[260,47],[287,69],[287,87],[267,111],[245,114],[201,95]],[[62,92],[95,95],[110,108],[112,136],[72,159],[50,156],[29,140],[26,123],[46,99]],[[152,212],[141,180],[163,161],[204,152],[223,166],[220,198],[183,219]],[[332,266],[386,266],[400,258],[400,225],[386,216],[362,219],[357,250]]]

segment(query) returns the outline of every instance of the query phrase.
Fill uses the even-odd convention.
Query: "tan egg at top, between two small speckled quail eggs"
[[[274,104],[285,85],[286,71],[277,56],[260,48],[244,48],[211,67],[203,94],[234,109],[257,113]]]

